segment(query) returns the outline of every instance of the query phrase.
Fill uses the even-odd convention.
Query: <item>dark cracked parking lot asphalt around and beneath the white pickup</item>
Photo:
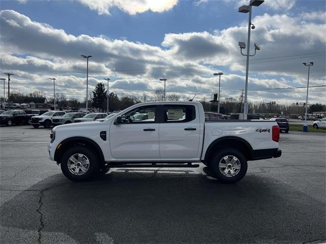
[[[282,133],[277,159],[221,184],[206,167],[115,169],[72,182],[49,129],[0,128],[1,243],[325,242],[324,134]]]

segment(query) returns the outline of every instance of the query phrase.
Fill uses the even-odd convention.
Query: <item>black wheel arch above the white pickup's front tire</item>
[[[63,140],[58,145],[60,144],[61,146],[59,147],[59,149],[56,149],[55,156],[54,156],[54,159],[55,161],[57,161],[58,164],[65,151],[75,145],[83,145],[83,146],[87,146],[89,149],[92,149],[94,153],[98,155],[100,162],[104,163],[104,156],[103,156],[102,149],[95,141],[93,141],[90,138],[82,137],[82,136],[74,136]]]

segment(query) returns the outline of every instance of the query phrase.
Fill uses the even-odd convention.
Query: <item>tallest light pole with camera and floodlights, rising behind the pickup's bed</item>
[[[251,10],[252,6],[259,6],[264,2],[264,0],[251,0],[249,6],[243,5],[239,8],[238,12],[239,13],[249,13],[249,23],[248,23],[248,39],[247,39],[247,54],[242,53],[242,49],[246,48],[246,44],[243,42],[239,42],[241,54],[243,56],[247,56],[247,65],[246,65],[246,85],[244,86],[244,114],[243,114],[243,119],[247,119],[247,114],[248,114],[248,73],[249,73],[249,57],[254,56],[256,54],[256,50],[260,50],[260,47],[255,43],[255,54],[250,55],[250,28],[254,29],[255,25],[251,23]]]

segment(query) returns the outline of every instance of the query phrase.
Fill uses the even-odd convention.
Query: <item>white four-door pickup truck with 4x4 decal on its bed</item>
[[[140,120],[136,114],[148,116]],[[233,183],[246,174],[247,161],[280,157],[279,137],[276,121],[205,121],[201,103],[148,102],[105,121],[57,126],[48,150],[64,175],[76,181],[110,168],[204,163],[218,180]]]

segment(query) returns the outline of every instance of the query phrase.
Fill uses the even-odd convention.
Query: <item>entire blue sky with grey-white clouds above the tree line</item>
[[[153,96],[164,87],[182,98],[211,99],[223,72],[221,97],[237,98],[244,88],[248,14],[237,8],[249,0],[76,0],[2,1],[0,72],[14,73],[11,90],[44,90],[67,97],[86,96],[110,78],[118,95]],[[326,85],[325,1],[265,0],[253,7],[251,35],[261,50],[250,59],[250,101],[305,102],[310,85]],[[3,78],[6,78],[3,75]],[[7,87],[7,85],[6,85]],[[279,89],[287,88],[287,89]],[[1,94],[3,86],[1,85]],[[309,89],[309,103],[325,103],[325,87]]]

